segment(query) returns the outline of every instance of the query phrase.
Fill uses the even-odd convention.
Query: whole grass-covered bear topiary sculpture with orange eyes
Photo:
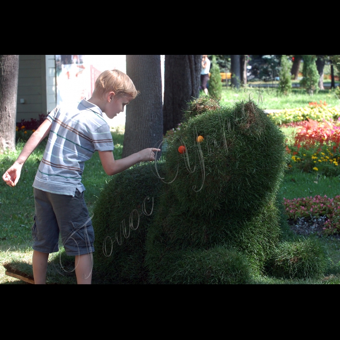
[[[92,219],[96,271],[113,282],[152,284],[320,275],[320,244],[284,238],[276,199],[284,142],[252,101],[190,102],[164,160],[136,165],[103,188]]]

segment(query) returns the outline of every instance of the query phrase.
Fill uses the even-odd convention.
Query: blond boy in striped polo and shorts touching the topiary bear
[[[3,174],[7,185],[16,186],[27,158],[49,135],[46,149],[35,175],[35,216],[32,227],[33,274],[35,284],[46,283],[50,253],[58,251],[61,235],[67,255],[75,256],[78,284],[90,284],[94,232],[81,183],[84,162],[98,151],[106,174],[114,175],[142,161],[153,161],[149,148],[115,160],[110,127],[102,118],[114,118],[136,98],[132,80],[119,70],[102,72],[92,97],[68,107],[56,107],[29,138],[17,160]]]

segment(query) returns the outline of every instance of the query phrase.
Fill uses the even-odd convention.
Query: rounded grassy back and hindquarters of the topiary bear
[[[107,280],[147,282],[145,238],[163,187],[153,171],[151,163],[141,163],[115,175],[96,201],[94,266]]]

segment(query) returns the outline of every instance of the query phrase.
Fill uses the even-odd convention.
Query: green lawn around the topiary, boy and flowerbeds
[[[261,91],[263,89],[260,89]],[[293,89],[288,97],[277,97],[271,90],[246,88],[246,90],[233,90],[223,88],[222,104],[231,105],[238,100],[248,100],[249,95],[257,102],[258,94],[261,93],[262,102],[260,107],[267,109],[294,108],[308,105],[308,102],[326,101],[329,106],[339,106],[340,101],[333,91],[320,91],[318,94],[311,96],[303,93],[301,89]],[[288,138],[291,138],[295,131],[292,127],[283,128]],[[121,156],[123,135],[119,132],[112,131],[115,144],[115,158]],[[17,151],[13,153],[0,154],[0,172],[1,175],[16,160],[17,155],[22,149],[23,144],[17,145]],[[0,185],[0,264],[11,261],[23,261],[31,264],[32,260],[32,236],[31,226],[34,216],[34,199],[32,184],[38,164],[44,151],[44,143],[40,145],[27,160],[22,172],[19,183],[16,187],[8,187],[3,181]],[[279,191],[279,199],[293,199],[306,196],[326,195],[335,197],[339,195],[340,177],[319,176],[315,173],[304,173],[299,170],[287,171]],[[105,185],[109,176],[105,174],[98,156],[95,153],[92,158],[86,162],[83,174],[83,183],[86,187],[85,201],[89,208],[90,214],[93,204],[101,188]],[[315,236],[316,237],[316,236]],[[339,284],[340,283],[340,238],[333,236],[320,237],[329,256],[329,266],[325,277],[321,280],[274,280],[266,277],[258,278],[257,284]],[[50,259],[55,255],[50,255]],[[97,281],[96,281],[97,280]],[[74,279],[75,282],[75,279]],[[94,283],[104,283],[100,279],[93,277]],[[16,278],[5,275],[5,269],[0,266],[0,284],[26,284]]]

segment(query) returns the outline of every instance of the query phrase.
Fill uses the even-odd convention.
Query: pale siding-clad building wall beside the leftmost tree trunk
[[[17,122],[38,119],[55,107],[54,55],[19,55]]]

